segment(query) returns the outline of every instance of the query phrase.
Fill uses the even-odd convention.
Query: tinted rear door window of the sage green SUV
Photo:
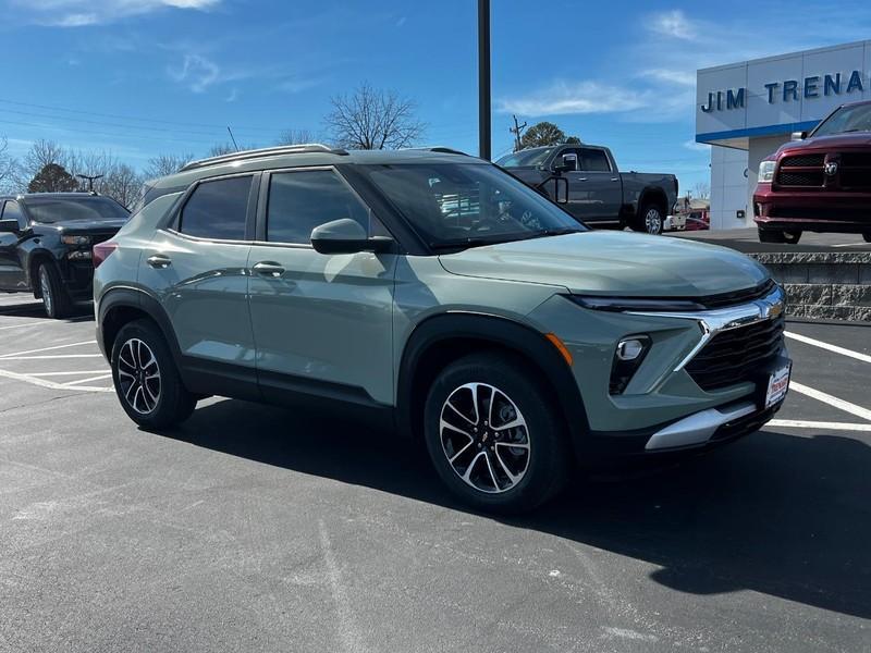
[[[179,231],[200,238],[242,241],[252,177],[203,182],[182,210]]]

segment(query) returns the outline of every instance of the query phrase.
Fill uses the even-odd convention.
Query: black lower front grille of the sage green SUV
[[[738,326],[714,335],[686,370],[699,387],[719,390],[752,381],[783,345],[784,318]]]

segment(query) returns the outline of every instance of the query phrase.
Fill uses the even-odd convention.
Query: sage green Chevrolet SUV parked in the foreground
[[[97,245],[98,341],[149,429],[209,395],[341,405],[422,439],[480,509],[573,469],[752,432],[786,395],[784,295],[728,249],[587,230],[444,148],[198,161]]]

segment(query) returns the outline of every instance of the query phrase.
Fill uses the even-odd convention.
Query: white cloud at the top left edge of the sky
[[[11,0],[25,20],[57,27],[83,27],[148,14],[161,9],[209,10],[222,0]]]

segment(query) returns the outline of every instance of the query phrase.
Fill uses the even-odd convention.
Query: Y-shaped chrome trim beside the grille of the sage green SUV
[[[679,318],[683,320],[696,320],[701,330],[701,337],[689,354],[677,364],[675,372],[683,370],[687,364],[707,345],[713,336],[723,331],[739,329],[748,324],[764,322],[781,316],[786,307],[786,293],[781,286],[775,286],[771,293],[759,299],[753,299],[747,304],[728,306],[726,308],[715,308],[712,310],[682,311],[682,312],[654,312],[654,311],[626,311],[630,316],[643,316],[651,318]]]

